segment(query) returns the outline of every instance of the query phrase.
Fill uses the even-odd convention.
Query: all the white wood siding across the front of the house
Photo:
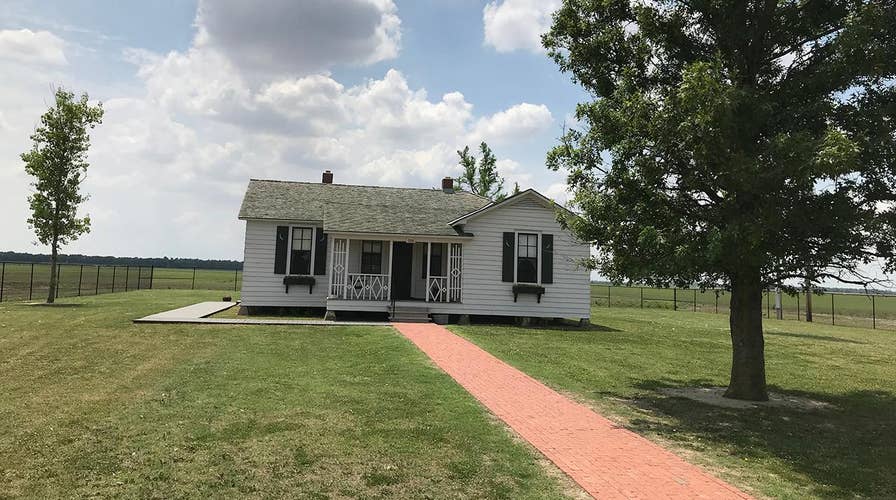
[[[326,307],[328,276],[316,276],[313,294],[306,286],[290,287],[285,293],[283,275],[274,274],[274,248],[278,225],[285,222],[246,221],[245,262],[243,264],[242,301],[246,306]],[[306,225],[307,224],[303,224]],[[431,312],[505,316],[589,318],[590,273],[578,262],[589,255],[587,244],[580,243],[560,227],[553,210],[531,199],[498,207],[467,223],[474,236],[463,245],[461,303],[429,303]],[[534,232],[554,236],[554,282],[544,284],[541,303],[534,295],[520,295],[513,301],[513,283],[501,281],[503,233]],[[332,236],[327,249],[330,271]],[[425,244],[414,245],[411,266],[414,297],[423,298],[425,283],[420,278]],[[541,248],[538,249],[539,253]],[[444,252],[447,254],[447,252]],[[540,257],[543,257],[540,255]],[[388,272],[388,243],[383,245],[383,274]],[[444,269],[445,255],[442,257]],[[352,241],[349,250],[350,272],[360,269],[361,243]],[[360,301],[359,301],[360,302]],[[346,309],[363,308],[363,302]],[[367,304],[369,306],[369,304]],[[381,309],[377,304],[374,310]]]

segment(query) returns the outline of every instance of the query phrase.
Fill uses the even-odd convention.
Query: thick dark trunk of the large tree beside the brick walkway
[[[768,401],[762,338],[762,282],[751,271],[731,282],[731,382],[726,398]]]

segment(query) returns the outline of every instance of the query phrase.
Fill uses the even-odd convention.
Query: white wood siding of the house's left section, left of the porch
[[[277,226],[289,226],[286,222],[246,221],[246,247],[243,254],[243,291],[240,300],[244,306],[274,307],[326,307],[327,275],[315,276],[313,293],[305,285],[293,285],[286,293],[283,275],[274,274],[274,249]],[[307,224],[302,224],[308,227]],[[292,234],[290,234],[292,237]],[[327,246],[327,272],[330,269],[330,251]],[[360,247],[359,247],[360,250]],[[287,256],[287,263],[289,256]],[[314,261],[312,260],[312,268]],[[313,269],[312,269],[313,270]]]

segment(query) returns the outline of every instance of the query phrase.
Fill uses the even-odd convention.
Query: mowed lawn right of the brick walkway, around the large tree
[[[726,316],[596,308],[592,321],[451,328],[756,495],[896,498],[893,332],[766,321],[770,390],[831,407],[725,409],[660,389],[727,384]]]

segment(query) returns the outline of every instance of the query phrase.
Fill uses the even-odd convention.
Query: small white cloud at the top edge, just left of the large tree
[[[498,52],[544,52],[541,35],[560,0],[494,0],[482,10],[485,43]]]

